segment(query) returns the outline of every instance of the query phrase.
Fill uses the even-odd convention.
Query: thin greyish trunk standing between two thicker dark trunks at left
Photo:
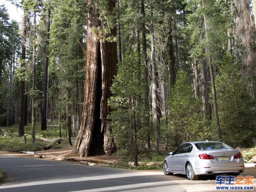
[[[36,40],[36,13],[34,12],[34,41]],[[33,42],[33,61],[32,61],[32,143],[36,141],[36,102],[35,102],[35,91],[36,91],[36,43]]]

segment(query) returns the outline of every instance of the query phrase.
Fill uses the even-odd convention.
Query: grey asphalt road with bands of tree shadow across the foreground
[[[42,159],[0,156],[9,178],[0,192],[213,191],[214,181],[189,181],[185,175],[87,166]],[[210,183],[209,183],[210,182]],[[213,182],[213,183],[212,183]]]

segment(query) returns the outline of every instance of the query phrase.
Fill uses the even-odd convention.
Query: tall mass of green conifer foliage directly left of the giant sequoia
[[[56,100],[60,88],[62,112],[66,106],[72,108],[74,101],[81,104],[83,98],[85,56],[79,42],[85,47],[83,39],[86,32],[85,1],[65,0],[64,2],[56,0],[52,4],[55,8],[51,16],[53,22],[49,41],[49,76],[51,77],[49,93]]]

